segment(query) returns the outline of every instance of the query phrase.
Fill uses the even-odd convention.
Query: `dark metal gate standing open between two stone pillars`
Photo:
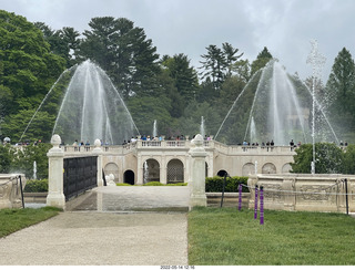
[[[63,191],[65,200],[97,186],[97,156],[64,158]]]

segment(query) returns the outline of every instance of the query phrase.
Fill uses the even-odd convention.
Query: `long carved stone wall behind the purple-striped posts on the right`
[[[255,185],[263,186],[265,209],[355,211],[354,175],[251,175],[250,208],[255,204]]]

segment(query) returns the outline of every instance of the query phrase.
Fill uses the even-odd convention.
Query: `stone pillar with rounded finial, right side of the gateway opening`
[[[195,147],[193,147],[195,145]],[[205,194],[205,157],[207,153],[203,148],[203,137],[197,134],[192,141],[190,174],[190,209],[194,206],[207,206]]]

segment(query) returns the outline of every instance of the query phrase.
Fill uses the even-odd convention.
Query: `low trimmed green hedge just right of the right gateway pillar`
[[[223,191],[224,177],[206,177],[206,193],[222,193]],[[225,179],[225,193],[237,193],[239,184],[242,183],[247,185],[247,177],[245,176],[233,176],[226,177]],[[243,193],[248,193],[248,188],[243,186]]]

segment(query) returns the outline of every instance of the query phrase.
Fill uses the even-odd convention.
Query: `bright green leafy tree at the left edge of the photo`
[[[2,136],[12,139],[24,131],[28,122],[20,118],[39,106],[65,60],[51,53],[38,28],[14,13],[0,10],[0,117],[4,117]]]

